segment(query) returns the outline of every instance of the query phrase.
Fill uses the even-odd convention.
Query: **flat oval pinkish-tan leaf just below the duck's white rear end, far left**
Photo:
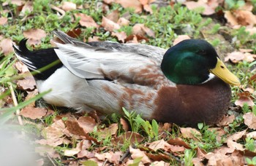
[[[40,119],[42,116],[45,116],[46,112],[46,108],[34,108],[27,106],[20,111],[20,115],[30,119]]]

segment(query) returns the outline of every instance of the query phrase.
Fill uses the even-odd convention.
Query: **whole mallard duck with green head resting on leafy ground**
[[[64,44],[30,51],[26,39],[15,55],[34,75],[43,98],[55,106],[101,114],[137,111],[144,119],[178,125],[213,125],[230,106],[230,85],[239,85],[214,47],[187,39],[165,50],[146,44],[80,42],[53,32]],[[60,60],[46,71],[39,68]]]

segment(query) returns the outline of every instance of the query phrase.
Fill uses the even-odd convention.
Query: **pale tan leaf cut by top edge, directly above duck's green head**
[[[183,4],[187,6],[188,9],[197,9],[203,7],[203,15],[213,15],[215,13],[213,7],[208,6],[207,1],[198,0],[198,1],[185,1]]]

